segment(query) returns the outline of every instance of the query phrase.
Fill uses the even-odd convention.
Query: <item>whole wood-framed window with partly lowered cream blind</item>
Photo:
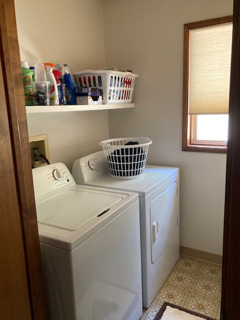
[[[225,153],[232,16],[184,24],[182,150]]]

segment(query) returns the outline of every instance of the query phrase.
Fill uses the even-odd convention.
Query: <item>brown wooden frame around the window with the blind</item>
[[[184,24],[183,42],[183,103],[182,103],[182,151],[226,153],[224,141],[196,140],[194,130],[195,115],[188,114],[188,63],[189,63],[189,30],[232,22],[232,15],[191,22]]]

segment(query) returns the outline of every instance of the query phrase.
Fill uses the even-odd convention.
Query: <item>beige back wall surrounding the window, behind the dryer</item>
[[[181,151],[183,24],[232,14],[232,0],[104,0],[106,65],[139,75],[135,109],[109,135],[147,136],[147,162],[180,168],[180,244],[222,254],[226,155]]]

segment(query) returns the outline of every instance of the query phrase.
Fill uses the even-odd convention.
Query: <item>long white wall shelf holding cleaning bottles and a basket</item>
[[[95,104],[95,105],[26,105],[26,113],[93,111],[134,108],[135,103]]]

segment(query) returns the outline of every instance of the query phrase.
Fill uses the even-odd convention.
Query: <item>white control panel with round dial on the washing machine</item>
[[[75,185],[75,181],[63,163],[53,163],[32,169],[35,200],[54,195]]]

